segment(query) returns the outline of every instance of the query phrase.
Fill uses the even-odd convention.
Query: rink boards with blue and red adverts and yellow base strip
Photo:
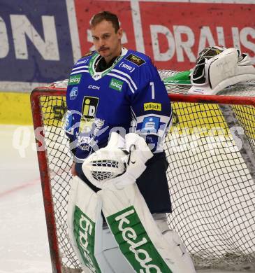
[[[89,20],[101,10],[117,13],[123,45],[158,69],[190,69],[208,45],[240,48],[255,64],[254,0],[1,0],[0,123],[31,123],[28,94],[93,50]]]

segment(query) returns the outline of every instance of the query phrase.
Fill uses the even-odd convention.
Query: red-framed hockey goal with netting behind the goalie
[[[66,88],[31,93],[53,272],[82,272],[68,239],[72,159],[64,133]],[[255,269],[255,96],[169,94],[165,141],[173,213],[168,224],[196,269]]]

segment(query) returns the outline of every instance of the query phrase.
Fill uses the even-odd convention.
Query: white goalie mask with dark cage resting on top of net
[[[191,94],[217,94],[225,87],[255,79],[251,59],[235,48],[211,46],[199,53],[191,71]]]

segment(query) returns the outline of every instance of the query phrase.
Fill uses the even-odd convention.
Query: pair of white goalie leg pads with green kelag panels
[[[110,230],[103,225],[102,209]],[[84,272],[195,272],[180,237],[165,218],[154,221],[136,184],[94,193],[75,177],[68,232]]]

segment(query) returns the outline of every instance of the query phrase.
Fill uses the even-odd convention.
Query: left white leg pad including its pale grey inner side
[[[68,235],[85,273],[130,273],[107,225],[103,226],[101,197],[75,176],[68,199]]]

